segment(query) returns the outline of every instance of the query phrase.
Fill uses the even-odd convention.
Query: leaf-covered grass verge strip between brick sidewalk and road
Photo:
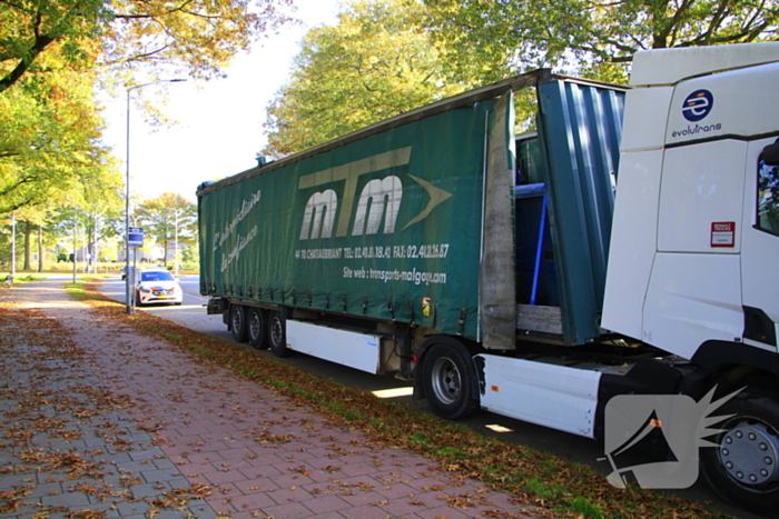
[[[124,305],[103,298],[86,281],[69,285],[68,291],[105,318],[127,322],[139,333],[189,350],[204,362],[215,362],[273,388],[333,422],[363,430],[381,445],[424,455],[452,476],[474,478],[507,492],[517,502],[533,506],[533,515],[596,519],[730,517],[637,486],[613,488],[588,466],[483,436],[142,311],[128,316]]]

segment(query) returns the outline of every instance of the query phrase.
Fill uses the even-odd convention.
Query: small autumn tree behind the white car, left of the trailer
[[[168,265],[168,243],[176,238],[178,242],[194,244],[197,241],[197,204],[180,194],[162,193],[146,200],[138,207],[138,221],[149,230],[157,242],[165,248],[165,265]]]

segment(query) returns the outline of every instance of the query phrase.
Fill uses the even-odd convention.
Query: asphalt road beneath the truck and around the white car
[[[199,293],[199,278],[197,276],[181,276],[179,283],[184,290],[181,306],[147,306],[142,311],[171,320],[200,333],[234,342],[233,336],[221,321],[221,316],[206,315],[205,305],[208,298]],[[107,279],[100,286],[100,291],[117,301],[125,302],[125,282],[117,275],[114,279]],[[245,345],[244,345],[245,346]],[[248,348],[248,346],[245,346]],[[269,351],[257,351],[257,355],[268,355]],[[373,391],[381,398],[389,398],[400,405],[412,406],[422,412],[431,412],[424,401],[413,401],[411,386],[391,376],[375,376],[347,368],[333,362],[324,361],[307,355],[297,353],[293,357],[279,359],[297,366],[321,377],[337,380],[341,383]],[[506,441],[522,443],[544,452],[551,452],[571,461],[584,463],[599,470],[601,473],[611,472],[611,466],[604,458],[602,442],[593,441],[575,435],[556,431],[545,427],[514,420],[491,412],[462,420],[461,423],[471,427],[484,435],[497,436]],[[601,460],[603,459],[603,460]],[[738,510],[724,503],[703,481],[691,488],[670,491],[681,498],[708,503],[711,508],[724,513],[730,513],[745,519],[759,519],[760,516]]]

